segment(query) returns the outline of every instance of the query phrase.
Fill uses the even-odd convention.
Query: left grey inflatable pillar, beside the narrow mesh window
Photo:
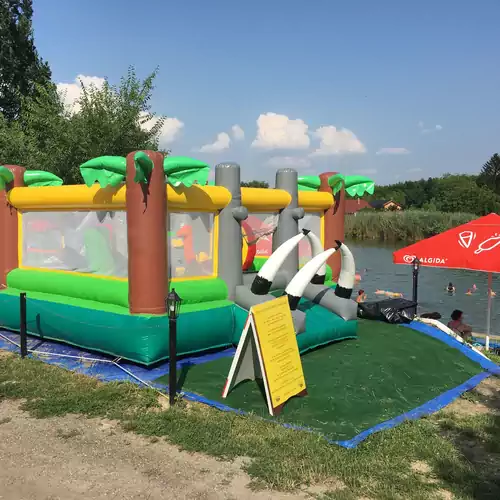
[[[229,205],[219,214],[218,277],[226,283],[229,300],[234,300],[236,287],[243,284],[240,223],[248,217],[248,210],[241,205],[240,166],[237,163],[217,165],[215,185],[231,193]]]

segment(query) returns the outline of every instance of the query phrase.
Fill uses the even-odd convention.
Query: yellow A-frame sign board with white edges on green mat
[[[307,394],[286,296],[250,309],[222,397],[227,397],[229,391],[243,380],[257,378],[264,382],[272,416],[279,414],[291,397]]]

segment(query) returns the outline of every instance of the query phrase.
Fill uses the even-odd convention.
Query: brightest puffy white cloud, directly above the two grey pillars
[[[310,144],[309,127],[301,119],[292,120],[277,113],[261,114],[257,118],[257,137],[253,148],[307,149]]]

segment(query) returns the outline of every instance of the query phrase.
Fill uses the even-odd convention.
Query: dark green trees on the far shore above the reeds
[[[370,199],[393,200],[406,209],[475,215],[500,212],[500,197],[486,186],[478,185],[477,179],[474,175],[445,174],[440,178],[377,186]]]

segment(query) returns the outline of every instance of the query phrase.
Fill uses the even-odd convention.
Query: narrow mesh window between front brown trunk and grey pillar
[[[214,214],[170,213],[167,218],[169,273],[172,278],[212,276]]]

